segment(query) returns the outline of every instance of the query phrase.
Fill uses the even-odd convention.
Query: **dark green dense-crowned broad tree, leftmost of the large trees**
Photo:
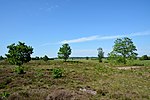
[[[27,63],[31,60],[30,55],[33,53],[31,46],[25,45],[25,43],[19,42],[7,46],[8,54],[6,54],[9,63],[21,66],[23,63]]]

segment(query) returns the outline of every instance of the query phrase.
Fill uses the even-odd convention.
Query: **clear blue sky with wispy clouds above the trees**
[[[99,47],[107,56],[123,37],[150,56],[150,0],[0,0],[2,56],[18,41],[33,57],[57,57],[64,43],[72,57],[96,57]]]

